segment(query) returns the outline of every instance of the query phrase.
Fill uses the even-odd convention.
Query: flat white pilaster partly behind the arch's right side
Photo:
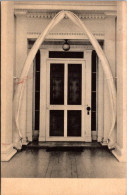
[[[110,30],[109,30],[110,29]],[[105,19],[104,52],[107,56],[113,77],[115,79],[115,17]],[[104,75],[104,138],[103,145],[107,145],[108,135],[112,125],[111,100],[106,76]]]

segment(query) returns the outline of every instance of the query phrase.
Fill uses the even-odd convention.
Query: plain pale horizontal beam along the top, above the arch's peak
[[[14,3],[15,9],[27,10],[78,10],[78,11],[114,11],[117,10],[117,2],[115,1],[18,1]]]

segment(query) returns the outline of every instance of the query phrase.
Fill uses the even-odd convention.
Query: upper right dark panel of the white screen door
[[[68,64],[68,105],[81,105],[82,65]]]

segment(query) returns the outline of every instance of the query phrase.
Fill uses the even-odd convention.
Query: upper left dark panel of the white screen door
[[[50,64],[50,104],[64,104],[64,64]]]

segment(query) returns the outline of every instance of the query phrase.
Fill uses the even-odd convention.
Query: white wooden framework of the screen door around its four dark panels
[[[50,105],[50,64],[51,63],[63,63],[65,67],[64,74],[64,105]],[[68,64],[82,64],[82,105],[67,105],[67,77],[68,77]],[[84,141],[85,138],[85,122],[84,122],[84,112],[85,112],[85,61],[79,59],[54,59],[47,60],[47,119],[46,119],[46,141]],[[83,85],[84,83],[84,85]],[[49,136],[49,111],[50,110],[64,110],[64,137],[50,137]],[[81,137],[67,137],[67,110],[81,110],[82,119],[81,119]]]

